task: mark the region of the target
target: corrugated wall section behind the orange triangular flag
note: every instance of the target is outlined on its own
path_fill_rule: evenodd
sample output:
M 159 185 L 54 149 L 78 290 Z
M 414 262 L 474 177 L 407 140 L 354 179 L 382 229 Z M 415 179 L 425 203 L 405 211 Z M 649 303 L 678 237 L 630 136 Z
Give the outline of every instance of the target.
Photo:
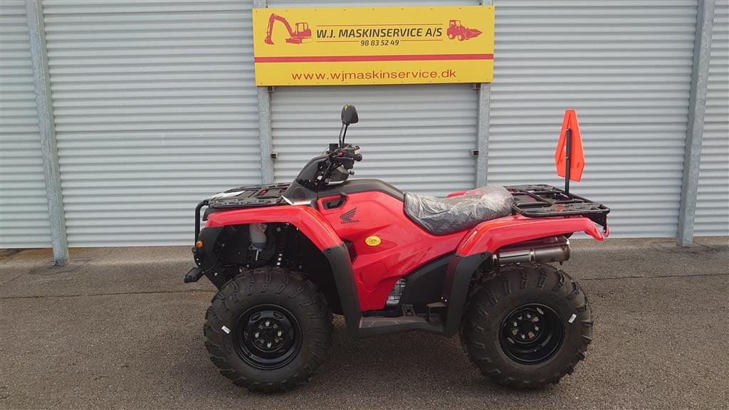
M 561 185 L 554 150 L 577 109 L 575 193 L 614 236 L 675 236 L 697 2 L 496 0 L 488 182 Z

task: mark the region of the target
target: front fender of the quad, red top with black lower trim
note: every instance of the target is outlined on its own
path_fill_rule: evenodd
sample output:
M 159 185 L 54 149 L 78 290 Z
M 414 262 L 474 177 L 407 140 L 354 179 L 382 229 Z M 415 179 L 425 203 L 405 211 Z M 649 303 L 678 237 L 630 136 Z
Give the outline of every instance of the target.
M 352 336 L 359 336 L 359 320 L 362 318 L 362 312 L 359 309 L 352 263 L 346 245 L 332 225 L 315 209 L 292 205 L 216 212 L 208 217 L 206 228 L 252 223 L 290 223 L 321 250 L 332 268 L 347 330 Z

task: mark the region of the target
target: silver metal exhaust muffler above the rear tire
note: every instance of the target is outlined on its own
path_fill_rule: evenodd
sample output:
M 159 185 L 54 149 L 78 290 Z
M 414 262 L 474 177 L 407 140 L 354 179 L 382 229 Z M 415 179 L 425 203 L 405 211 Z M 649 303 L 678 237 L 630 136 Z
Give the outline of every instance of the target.
M 569 259 L 569 240 L 560 235 L 512 244 L 502 247 L 493 258 L 495 266 L 523 262 L 564 262 Z

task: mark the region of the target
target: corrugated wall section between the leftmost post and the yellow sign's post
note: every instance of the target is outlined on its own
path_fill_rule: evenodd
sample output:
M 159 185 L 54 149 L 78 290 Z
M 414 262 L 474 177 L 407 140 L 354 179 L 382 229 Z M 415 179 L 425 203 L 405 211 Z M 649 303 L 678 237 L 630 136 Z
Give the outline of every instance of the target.
M 251 1 L 44 1 L 71 246 L 187 244 L 261 180 Z

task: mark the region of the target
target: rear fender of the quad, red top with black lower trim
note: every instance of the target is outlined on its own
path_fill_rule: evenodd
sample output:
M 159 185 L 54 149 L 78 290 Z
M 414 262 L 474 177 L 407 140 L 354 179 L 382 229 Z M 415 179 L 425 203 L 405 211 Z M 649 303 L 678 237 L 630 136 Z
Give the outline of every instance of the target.
M 586 217 L 530 218 L 512 215 L 476 225 L 461 241 L 456 255 L 448 263 L 443 287 L 443 299 L 448 306 L 445 335 L 453 336 L 458 332 L 471 278 L 484 264 L 486 268 L 492 268 L 491 255 L 496 251 L 510 244 L 574 232 L 585 232 L 598 241 L 607 236 L 607 232 L 604 235 Z

